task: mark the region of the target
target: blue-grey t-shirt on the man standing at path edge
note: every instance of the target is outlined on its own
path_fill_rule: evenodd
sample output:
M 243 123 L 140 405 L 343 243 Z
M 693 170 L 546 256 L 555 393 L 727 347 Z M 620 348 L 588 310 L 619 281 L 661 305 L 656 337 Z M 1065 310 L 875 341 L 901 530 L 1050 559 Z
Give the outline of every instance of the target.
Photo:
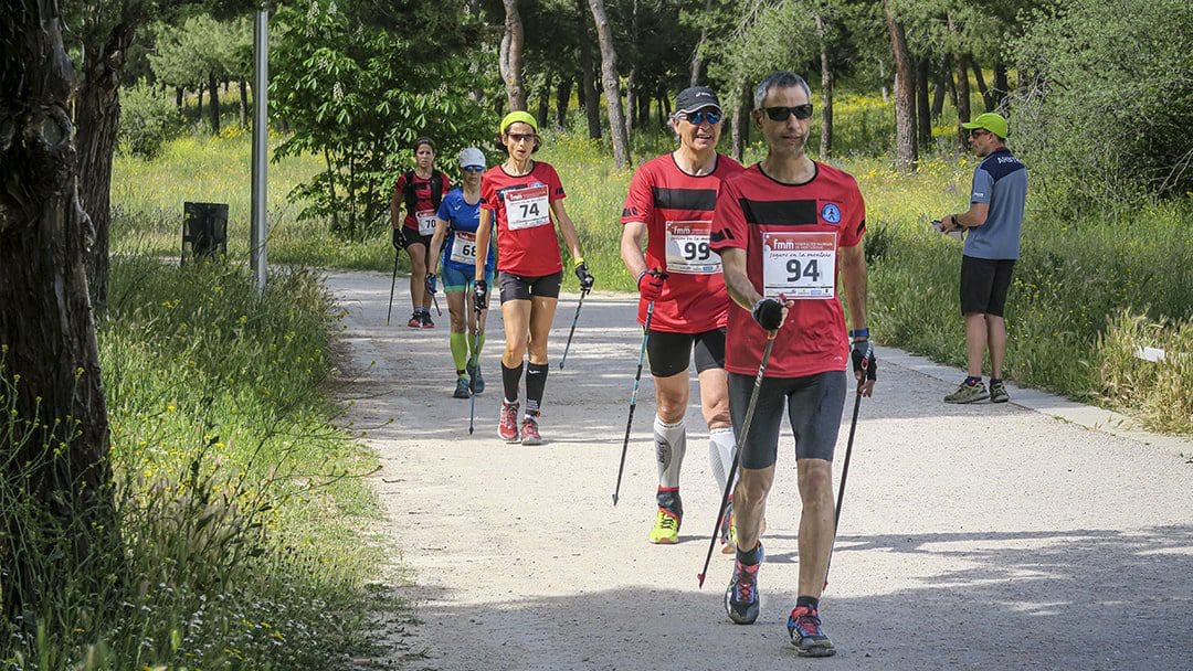
M 973 169 L 970 203 L 989 203 L 985 223 L 965 234 L 965 255 L 1019 259 L 1019 235 L 1027 201 L 1027 168 L 1003 147 Z

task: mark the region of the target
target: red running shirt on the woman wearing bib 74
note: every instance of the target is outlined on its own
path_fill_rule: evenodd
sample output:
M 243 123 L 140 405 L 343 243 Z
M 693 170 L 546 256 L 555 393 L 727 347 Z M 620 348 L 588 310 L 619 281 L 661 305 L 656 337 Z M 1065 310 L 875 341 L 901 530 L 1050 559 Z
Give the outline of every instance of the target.
M 497 222 L 497 271 L 540 278 L 563 269 L 551 203 L 564 195 L 560 175 L 542 161 L 523 176 L 500 164 L 481 175 L 481 207 Z

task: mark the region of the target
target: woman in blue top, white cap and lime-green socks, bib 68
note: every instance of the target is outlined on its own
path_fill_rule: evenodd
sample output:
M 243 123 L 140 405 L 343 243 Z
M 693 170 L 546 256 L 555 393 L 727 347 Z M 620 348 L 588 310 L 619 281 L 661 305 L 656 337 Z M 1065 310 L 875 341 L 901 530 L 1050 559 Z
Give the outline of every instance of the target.
M 482 249 L 476 244 L 476 228 L 481 222 L 481 173 L 484 154 L 475 147 L 459 153 L 462 185 L 444 197 L 435 213 L 435 234 L 431 238 L 429 282 L 443 249 L 444 293 L 451 315 L 451 358 L 456 362 L 456 398 L 469 398 L 484 391 L 481 377 L 481 347 L 484 344 L 484 318 L 488 310 L 476 312 L 468 304 L 465 292 L 471 284 L 474 263 Z M 493 246 L 484 261 L 484 281 L 493 281 L 496 259 Z M 466 327 L 466 328 L 465 328 Z M 469 336 L 471 334 L 471 336 Z

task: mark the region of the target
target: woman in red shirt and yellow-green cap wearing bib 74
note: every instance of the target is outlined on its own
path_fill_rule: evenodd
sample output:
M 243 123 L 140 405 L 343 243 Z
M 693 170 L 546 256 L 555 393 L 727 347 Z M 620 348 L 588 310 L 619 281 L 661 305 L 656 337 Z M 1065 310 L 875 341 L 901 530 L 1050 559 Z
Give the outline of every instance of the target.
M 534 161 L 538 150 L 538 123 L 526 112 L 511 112 L 501 119 L 497 147 L 509 157 L 489 168 L 481 178 L 481 225 L 477 248 L 489 244 L 490 222 L 496 222 L 497 285 L 501 288 L 501 318 L 506 327 L 506 349 L 501 355 L 505 398 L 497 435 L 508 442 L 542 445 L 538 421 L 546 386 L 546 336 L 555 318 L 563 279 L 563 260 L 555 237 L 560 225 L 563 242 L 571 251 L 576 278 L 582 290 L 592 288 L 593 277 L 580 254 L 576 226 L 563 209 L 563 185 L 549 163 Z M 554 215 L 554 220 L 552 220 Z M 476 307 L 488 306 L 489 285 L 484 262 L 476 260 Z M 523 356 L 526 366 L 526 412 L 518 423 L 518 387 Z

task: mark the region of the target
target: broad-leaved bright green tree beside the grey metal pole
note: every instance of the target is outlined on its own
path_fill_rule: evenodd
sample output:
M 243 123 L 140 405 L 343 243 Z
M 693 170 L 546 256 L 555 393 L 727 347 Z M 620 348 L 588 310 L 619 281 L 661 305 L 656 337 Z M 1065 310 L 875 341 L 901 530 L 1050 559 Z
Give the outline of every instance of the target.
M 475 62 L 456 55 L 476 36 L 463 11 L 429 0 L 311 0 L 283 7 L 277 24 L 272 110 L 293 132 L 277 157 L 310 153 L 326 167 L 293 193 L 307 201 L 301 218 L 367 237 L 413 162 L 415 138 L 429 136 L 452 156 L 493 137 L 490 107 L 471 97 Z

